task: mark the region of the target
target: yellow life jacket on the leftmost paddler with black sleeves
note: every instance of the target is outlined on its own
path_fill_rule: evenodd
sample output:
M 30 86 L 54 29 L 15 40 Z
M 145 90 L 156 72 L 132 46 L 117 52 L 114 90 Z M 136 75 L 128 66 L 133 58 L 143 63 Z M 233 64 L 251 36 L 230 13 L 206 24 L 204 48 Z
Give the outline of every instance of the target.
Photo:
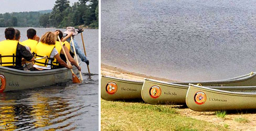
M 15 66 L 16 62 L 16 50 L 18 41 L 16 40 L 4 40 L 0 42 L 0 65 Z

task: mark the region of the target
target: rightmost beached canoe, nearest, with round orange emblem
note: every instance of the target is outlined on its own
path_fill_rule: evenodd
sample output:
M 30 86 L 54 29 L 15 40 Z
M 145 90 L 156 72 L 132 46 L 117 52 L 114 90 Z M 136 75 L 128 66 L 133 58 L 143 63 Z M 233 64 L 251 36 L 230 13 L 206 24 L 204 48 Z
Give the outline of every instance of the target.
M 186 104 L 191 110 L 200 112 L 256 109 L 256 93 L 230 92 L 190 84 Z

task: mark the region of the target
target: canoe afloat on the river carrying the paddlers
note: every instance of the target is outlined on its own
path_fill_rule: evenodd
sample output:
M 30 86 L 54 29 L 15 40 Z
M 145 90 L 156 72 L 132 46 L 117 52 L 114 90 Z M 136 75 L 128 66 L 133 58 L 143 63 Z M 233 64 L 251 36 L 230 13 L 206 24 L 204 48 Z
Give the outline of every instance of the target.
M 74 73 L 78 73 L 73 66 Z M 0 66 L 0 92 L 38 88 L 72 80 L 67 68 L 47 71 L 23 71 Z

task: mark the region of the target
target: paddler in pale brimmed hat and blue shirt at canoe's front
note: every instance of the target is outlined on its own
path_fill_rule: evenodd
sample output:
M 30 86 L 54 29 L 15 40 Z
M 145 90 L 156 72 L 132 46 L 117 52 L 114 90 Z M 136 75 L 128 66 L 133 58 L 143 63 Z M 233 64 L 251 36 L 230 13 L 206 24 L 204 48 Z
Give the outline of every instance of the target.
M 76 36 L 77 34 L 79 34 L 80 32 L 82 32 L 83 29 L 79 29 L 78 31 L 77 30 L 74 30 L 74 27 L 67 27 L 66 31 L 64 31 L 63 33 L 64 34 L 70 34 L 70 33 L 73 33 L 72 34 L 72 38 L 73 38 L 73 42 L 74 42 L 74 47 L 76 49 L 76 52 L 79 56 L 79 58 L 81 59 L 81 61 L 85 62 L 87 65 L 89 65 L 89 60 L 86 58 L 86 55 L 84 55 L 84 53 L 82 52 L 82 50 L 80 49 L 80 47 L 78 46 L 78 43 L 76 42 L 76 40 L 74 40 L 74 36 Z M 63 38 L 64 40 L 66 39 L 67 37 Z M 67 38 L 67 41 L 70 43 L 71 42 L 71 38 Z M 73 51 L 73 46 L 72 44 L 70 44 L 70 51 L 71 51 L 71 55 L 73 56 L 74 54 L 74 51 Z

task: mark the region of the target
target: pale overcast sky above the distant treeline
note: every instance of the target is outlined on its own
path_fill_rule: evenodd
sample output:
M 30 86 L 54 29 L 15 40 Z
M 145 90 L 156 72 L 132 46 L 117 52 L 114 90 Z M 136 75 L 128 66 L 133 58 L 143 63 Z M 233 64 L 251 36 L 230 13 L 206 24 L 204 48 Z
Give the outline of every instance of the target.
M 70 5 L 78 0 L 69 0 Z M 0 0 L 0 13 L 31 12 L 52 9 L 55 0 Z

